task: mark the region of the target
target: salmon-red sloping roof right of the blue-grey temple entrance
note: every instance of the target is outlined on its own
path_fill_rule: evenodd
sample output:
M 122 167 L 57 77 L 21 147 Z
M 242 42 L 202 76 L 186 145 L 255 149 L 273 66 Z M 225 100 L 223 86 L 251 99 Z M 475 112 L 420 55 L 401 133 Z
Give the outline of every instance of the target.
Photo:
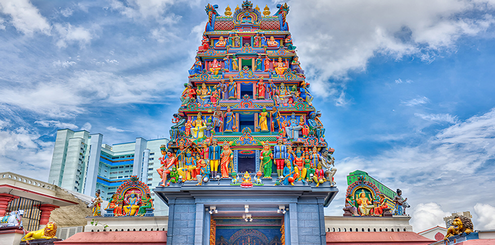
M 426 245 L 435 242 L 415 232 L 326 232 L 327 245 L 407 244 Z M 470 244 L 469 244 L 470 245 Z

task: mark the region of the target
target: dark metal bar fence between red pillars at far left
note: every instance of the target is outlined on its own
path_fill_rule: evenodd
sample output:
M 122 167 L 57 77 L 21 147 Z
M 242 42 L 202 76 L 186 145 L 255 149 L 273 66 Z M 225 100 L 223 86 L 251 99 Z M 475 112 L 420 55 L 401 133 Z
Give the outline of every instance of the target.
M 41 211 L 38 207 L 40 204 L 40 201 L 19 197 L 10 201 L 7 210 L 8 213 L 19 209 L 24 210 L 24 215 L 22 215 L 22 225 L 24 229 L 32 231 L 37 230 L 39 226 Z

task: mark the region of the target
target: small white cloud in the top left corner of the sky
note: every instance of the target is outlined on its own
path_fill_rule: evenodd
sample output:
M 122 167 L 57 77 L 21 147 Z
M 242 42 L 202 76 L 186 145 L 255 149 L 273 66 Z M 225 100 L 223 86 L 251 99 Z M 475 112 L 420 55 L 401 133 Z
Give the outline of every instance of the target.
M 0 12 L 11 17 L 10 23 L 24 34 L 40 31 L 50 34 L 50 25 L 29 0 L 0 0 Z

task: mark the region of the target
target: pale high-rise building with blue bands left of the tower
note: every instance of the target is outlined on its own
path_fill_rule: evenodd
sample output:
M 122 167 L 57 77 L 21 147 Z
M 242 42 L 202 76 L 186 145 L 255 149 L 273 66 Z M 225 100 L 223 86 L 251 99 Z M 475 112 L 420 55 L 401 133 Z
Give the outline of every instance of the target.
M 160 177 L 160 145 L 168 139 L 146 140 L 113 145 L 102 143 L 103 135 L 86 130 L 59 129 L 55 139 L 48 182 L 86 195 L 99 189 L 108 199 L 130 175 L 137 175 L 150 188 L 158 185 Z M 154 197 L 154 193 L 151 193 Z M 155 214 L 165 215 L 167 206 L 155 204 Z

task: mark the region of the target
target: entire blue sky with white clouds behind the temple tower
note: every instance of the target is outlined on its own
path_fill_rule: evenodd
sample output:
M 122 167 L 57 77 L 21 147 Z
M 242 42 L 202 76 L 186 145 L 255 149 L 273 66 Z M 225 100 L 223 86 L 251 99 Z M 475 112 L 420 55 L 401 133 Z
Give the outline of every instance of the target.
M 207 3 L 0 0 L 2 171 L 47 180 L 57 128 L 107 144 L 167 137 Z M 415 231 L 467 210 L 495 228 L 495 0 L 287 3 L 336 149 L 327 214 L 342 214 L 345 176 L 360 169 L 403 190 Z

